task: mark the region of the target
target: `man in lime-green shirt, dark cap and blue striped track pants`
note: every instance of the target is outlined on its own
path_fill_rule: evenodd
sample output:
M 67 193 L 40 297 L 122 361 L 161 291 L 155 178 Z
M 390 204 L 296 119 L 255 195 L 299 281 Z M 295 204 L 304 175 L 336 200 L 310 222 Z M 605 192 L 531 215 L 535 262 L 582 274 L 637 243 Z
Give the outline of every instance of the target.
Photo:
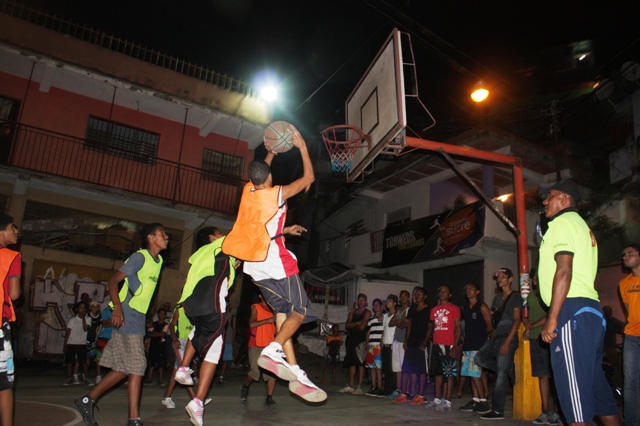
M 546 191 L 545 191 L 546 192 Z M 594 288 L 596 239 L 576 210 L 578 186 L 560 181 L 543 193 L 549 229 L 540 243 L 540 296 L 549 306 L 542 340 L 562 412 L 569 424 L 619 425 L 618 408 L 601 368 L 605 320 Z

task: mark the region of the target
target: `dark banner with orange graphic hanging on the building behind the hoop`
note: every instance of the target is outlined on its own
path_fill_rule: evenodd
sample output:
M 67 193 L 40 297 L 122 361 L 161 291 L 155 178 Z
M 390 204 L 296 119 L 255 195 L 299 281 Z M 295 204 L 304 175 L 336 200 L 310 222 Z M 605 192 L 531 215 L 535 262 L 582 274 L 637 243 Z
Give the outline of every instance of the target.
M 382 266 L 424 262 L 473 247 L 484 236 L 482 201 L 384 230 Z

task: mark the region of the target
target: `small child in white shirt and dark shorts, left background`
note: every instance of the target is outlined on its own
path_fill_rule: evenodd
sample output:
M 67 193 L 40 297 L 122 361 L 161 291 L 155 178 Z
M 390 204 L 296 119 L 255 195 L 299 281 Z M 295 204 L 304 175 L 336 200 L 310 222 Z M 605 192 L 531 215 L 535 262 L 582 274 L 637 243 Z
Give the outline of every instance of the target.
M 76 303 L 75 311 L 76 316 L 67 323 L 67 336 L 64 339 L 64 362 L 67 364 L 67 380 L 62 385 L 80 384 L 78 380 L 78 365 L 80 365 L 84 374 L 84 384 L 93 386 L 93 383 L 89 383 L 87 379 L 89 375 L 89 367 L 87 366 L 87 331 L 89 331 L 91 319 L 87 316 L 87 305 L 84 302 Z

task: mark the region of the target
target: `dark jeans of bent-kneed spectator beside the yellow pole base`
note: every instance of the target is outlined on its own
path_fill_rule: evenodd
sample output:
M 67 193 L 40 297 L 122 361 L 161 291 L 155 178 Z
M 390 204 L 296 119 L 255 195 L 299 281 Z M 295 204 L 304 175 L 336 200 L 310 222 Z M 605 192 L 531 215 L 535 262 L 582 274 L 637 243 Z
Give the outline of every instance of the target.
M 504 400 L 509 386 L 509 371 L 513 365 L 513 356 L 518 349 L 518 336 L 514 336 L 509 342 L 507 354 L 500 355 L 500 346 L 504 340 L 504 336 L 487 340 L 474 358 L 475 363 L 480 367 L 496 372 L 496 387 L 493 389 L 491 408 L 500 414 L 504 414 Z

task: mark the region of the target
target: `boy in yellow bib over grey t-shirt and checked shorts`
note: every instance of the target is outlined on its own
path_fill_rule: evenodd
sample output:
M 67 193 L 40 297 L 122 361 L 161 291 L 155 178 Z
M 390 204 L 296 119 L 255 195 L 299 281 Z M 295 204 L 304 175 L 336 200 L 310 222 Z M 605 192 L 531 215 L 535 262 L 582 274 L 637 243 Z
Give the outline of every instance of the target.
M 101 363 L 111 371 L 88 394 L 76 398 L 74 404 L 89 426 L 96 426 L 93 407 L 106 391 L 128 376 L 129 422 L 127 426 L 142 426 L 140 420 L 140 387 L 147 360 L 144 354 L 146 313 L 158 284 L 162 256 L 169 237 L 159 223 L 150 223 L 140 231 L 142 249 L 132 254 L 109 280 L 113 297 L 113 332 L 104 348 Z M 118 283 L 124 286 L 118 293 Z

